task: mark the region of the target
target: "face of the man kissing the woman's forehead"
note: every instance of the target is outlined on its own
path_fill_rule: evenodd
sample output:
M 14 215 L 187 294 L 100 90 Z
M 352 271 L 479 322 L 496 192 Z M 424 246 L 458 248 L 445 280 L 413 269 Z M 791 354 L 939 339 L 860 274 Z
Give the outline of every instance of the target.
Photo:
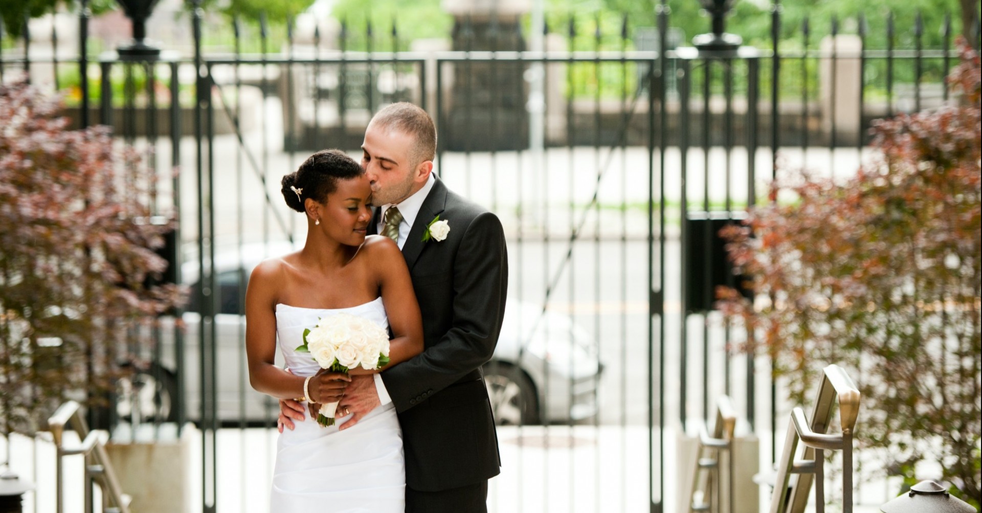
M 369 124 L 361 144 L 361 167 L 371 183 L 372 204 L 381 206 L 409 198 L 418 178 L 409 158 L 415 138 L 405 132 Z

